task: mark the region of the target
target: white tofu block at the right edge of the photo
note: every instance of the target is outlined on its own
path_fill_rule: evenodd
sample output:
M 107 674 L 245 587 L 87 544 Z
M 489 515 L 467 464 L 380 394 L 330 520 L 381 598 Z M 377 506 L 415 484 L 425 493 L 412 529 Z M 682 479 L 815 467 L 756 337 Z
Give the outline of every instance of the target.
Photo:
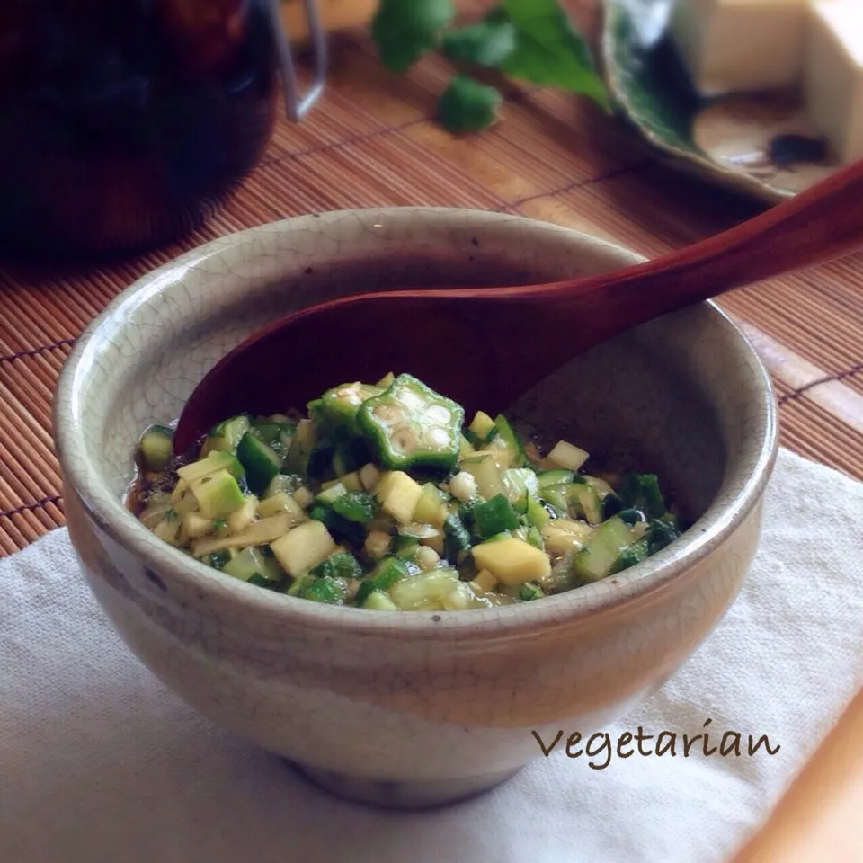
M 841 160 L 863 159 L 863 0 L 813 4 L 804 98 L 810 120 Z

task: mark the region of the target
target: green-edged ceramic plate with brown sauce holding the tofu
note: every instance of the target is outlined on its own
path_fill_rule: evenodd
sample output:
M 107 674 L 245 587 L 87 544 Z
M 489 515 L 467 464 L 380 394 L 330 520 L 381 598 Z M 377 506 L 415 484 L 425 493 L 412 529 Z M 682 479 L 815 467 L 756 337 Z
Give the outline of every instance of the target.
M 605 0 L 602 65 L 618 111 L 659 156 L 769 203 L 839 166 L 793 93 L 693 92 L 666 35 L 672 0 Z

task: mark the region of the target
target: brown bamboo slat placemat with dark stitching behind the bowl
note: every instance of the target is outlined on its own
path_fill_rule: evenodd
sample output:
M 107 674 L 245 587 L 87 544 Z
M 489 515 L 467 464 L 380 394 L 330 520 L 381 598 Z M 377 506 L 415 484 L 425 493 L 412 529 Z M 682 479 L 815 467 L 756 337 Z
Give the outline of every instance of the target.
M 74 272 L 0 265 L 0 556 L 63 524 L 50 405 L 76 335 L 129 283 L 183 250 L 310 211 L 374 205 L 492 209 L 610 237 L 647 255 L 748 218 L 751 201 L 657 164 L 592 105 L 516 88 L 494 129 L 451 138 L 431 120 L 449 69 L 379 65 L 368 37 L 342 33 L 325 97 L 280 124 L 267 154 L 182 245 Z M 767 361 L 790 449 L 863 479 L 863 255 L 743 289 L 722 306 Z

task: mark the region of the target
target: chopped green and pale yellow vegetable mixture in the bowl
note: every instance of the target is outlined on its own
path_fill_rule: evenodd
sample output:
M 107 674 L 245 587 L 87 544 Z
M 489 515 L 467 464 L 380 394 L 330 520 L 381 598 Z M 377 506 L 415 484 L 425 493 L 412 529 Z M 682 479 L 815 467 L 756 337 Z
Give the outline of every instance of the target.
M 157 537 L 289 596 L 379 610 L 535 601 L 616 574 L 681 535 L 653 474 L 591 476 L 503 417 L 411 375 L 334 387 L 307 416 L 239 415 L 195 460 L 170 428 L 138 445 L 133 508 Z

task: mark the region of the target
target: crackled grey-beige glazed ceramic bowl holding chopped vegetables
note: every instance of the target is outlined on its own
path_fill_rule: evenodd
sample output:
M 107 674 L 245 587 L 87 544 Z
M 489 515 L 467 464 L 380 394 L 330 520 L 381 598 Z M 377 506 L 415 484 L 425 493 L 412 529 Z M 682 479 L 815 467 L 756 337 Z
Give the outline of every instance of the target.
M 67 361 L 55 433 L 72 541 L 129 650 L 201 714 L 378 805 L 476 794 L 542 757 L 532 732 L 588 734 L 630 711 L 723 617 L 759 540 L 774 397 L 712 304 L 602 344 L 513 405 L 600 462 L 655 471 L 695 520 L 662 552 L 573 592 L 440 613 L 322 606 L 198 564 L 140 525 L 123 495 L 139 432 L 176 417 L 273 316 L 360 289 L 536 282 L 637 260 L 525 218 L 371 209 L 228 236 L 120 294 Z M 517 349 L 541 338 L 526 333 Z M 361 347 L 358 333 L 320 350 Z M 301 375 L 308 361 L 286 356 L 273 374 Z

